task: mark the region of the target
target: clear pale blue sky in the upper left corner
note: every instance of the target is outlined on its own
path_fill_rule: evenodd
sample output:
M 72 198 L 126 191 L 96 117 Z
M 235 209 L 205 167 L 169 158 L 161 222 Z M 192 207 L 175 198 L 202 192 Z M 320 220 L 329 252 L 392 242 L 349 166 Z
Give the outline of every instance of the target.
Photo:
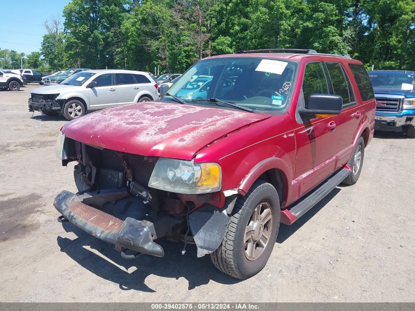
M 71 0 L 0 0 L 0 49 L 28 55 L 39 51 L 46 33 L 43 22 L 61 17 L 63 7 Z M 63 18 L 61 18 L 63 22 Z

